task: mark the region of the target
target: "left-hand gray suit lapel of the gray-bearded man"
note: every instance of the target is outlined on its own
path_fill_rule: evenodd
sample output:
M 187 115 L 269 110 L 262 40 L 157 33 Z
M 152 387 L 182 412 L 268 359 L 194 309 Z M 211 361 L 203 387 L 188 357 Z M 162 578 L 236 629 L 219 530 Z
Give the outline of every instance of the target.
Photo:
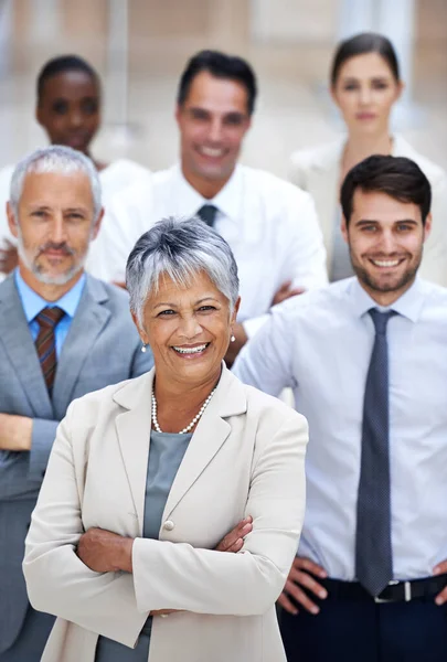
M 0 289 L 0 342 L 35 416 L 53 418 L 53 406 L 13 276 Z

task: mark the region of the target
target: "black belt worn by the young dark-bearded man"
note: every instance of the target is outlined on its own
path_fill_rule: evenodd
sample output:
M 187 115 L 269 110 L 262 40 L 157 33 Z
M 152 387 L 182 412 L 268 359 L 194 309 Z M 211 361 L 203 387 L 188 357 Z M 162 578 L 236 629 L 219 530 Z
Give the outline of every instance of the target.
M 447 585 L 447 574 L 411 581 L 390 581 L 379 596 L 371 596 L 358 581 L 318 579 L 328 591 L 327 599 L 374 600 L 374 602 L 409 602 L 415 599 L 433 599 Z

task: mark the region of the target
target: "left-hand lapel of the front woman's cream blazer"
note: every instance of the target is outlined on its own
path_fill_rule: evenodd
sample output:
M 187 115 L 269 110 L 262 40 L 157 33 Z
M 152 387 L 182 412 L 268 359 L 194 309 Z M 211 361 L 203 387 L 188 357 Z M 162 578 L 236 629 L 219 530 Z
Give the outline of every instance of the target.
M 152 381 L 155 370 L 131 380 L 114 399 L 127 410 L 116 418 L 116 431 L 125 466 L 140 535 L 145 521 L 146 478 L 151 429 Z

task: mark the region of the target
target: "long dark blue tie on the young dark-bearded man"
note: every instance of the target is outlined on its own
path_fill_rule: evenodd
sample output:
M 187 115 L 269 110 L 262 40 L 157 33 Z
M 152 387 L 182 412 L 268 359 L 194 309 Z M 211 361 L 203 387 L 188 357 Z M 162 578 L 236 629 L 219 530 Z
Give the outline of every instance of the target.
M 369 313 L 374 322 L 375 340 L 363 404 L 355 574 L 360 584 L 372 596 L 377 596 L 393 579 L 386 324 L 396 313 L 380 312 L 375 308 Z

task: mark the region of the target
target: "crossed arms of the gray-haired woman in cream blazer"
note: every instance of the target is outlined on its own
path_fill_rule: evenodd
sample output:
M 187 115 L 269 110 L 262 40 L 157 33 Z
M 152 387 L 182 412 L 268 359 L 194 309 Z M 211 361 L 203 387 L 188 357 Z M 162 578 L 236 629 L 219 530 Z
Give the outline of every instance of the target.
M 246 523 L 251 531 L 240 553 L 222 554 L 219 546 L 203 549 L 188 543 L 120 540 L 98 530 L 83 537 L 83 485 L 75 470 L 68 418 L 60 426 L 26 538 L 23 570 L 38 610 L 132 647 L 150 612 L 247 616 L 264 613 L 274 604 L 302 522 L 304 424 L 296 418 L 284 421 L 266 444 L 245 508 L 246 516 L 253 516 L 253 523 Z M 79 471 L 84 447 L 76 452 Z M 275 500 L 278 493 L 280 502 Z M 244 536 L 234 535 L 236 540 L 224 543 L 226 551 L 237 552 L 241 546 Z M 104 566 L 98 565 L 100 556 Z

